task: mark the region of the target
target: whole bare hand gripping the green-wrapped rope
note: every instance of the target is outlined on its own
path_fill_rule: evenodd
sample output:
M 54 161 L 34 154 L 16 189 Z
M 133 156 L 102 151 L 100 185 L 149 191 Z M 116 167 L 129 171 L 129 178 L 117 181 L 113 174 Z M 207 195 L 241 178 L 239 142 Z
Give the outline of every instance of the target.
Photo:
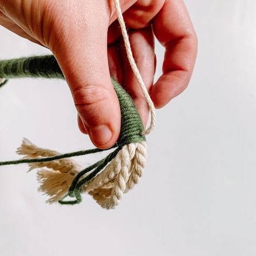
M 134 59 L 157 109 L 183 92 L 197 55 L 197 36 L 181 0 L 120 0 Z M 80 131 L 107 149 L 120 132 L 111 76 L 130 93 L 146 126 L 149 109 L 129 63 L 111 0 L 0 0 L 0 25 L 49 48 L 70 87 Z M 154 36 L 165 47 L 156 69 Z M 56 96 L 57 97 L 57 96 Z

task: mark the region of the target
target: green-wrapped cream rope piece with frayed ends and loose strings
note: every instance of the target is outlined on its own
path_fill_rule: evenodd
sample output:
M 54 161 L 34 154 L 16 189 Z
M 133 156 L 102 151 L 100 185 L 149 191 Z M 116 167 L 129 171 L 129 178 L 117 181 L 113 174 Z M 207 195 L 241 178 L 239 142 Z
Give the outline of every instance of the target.
M 17 153 L 24 157 L 19 160 L 3 161 L 0 166 L 11 164 L 29 164 L 29 171 L 38 169 L 39 191 L 47 194 L 48 203 L 78 204 L 82 201 L 81 193 L 90 194 L 103 208 L 116 207 L 124 193 L 131 190 L 142 177 L 146 165 L 145 135 L 154 128 L 156 114 L 154 105 L 132 56 L 129 37 L 118 0 L 116 5 L 118 21 L 124 37 L 127 57 L 131 68 L 142 89 L 151 112 L 151 123 L 144 130 L 136 105 L 118 82 L 112 79 L 121 109 L 121 131 L 116 145 L 104 159 L 83 169 L 71 157 L 84 156 L 104 150 L 92 149 L 60 154 L 32 144 L 23 139 Z M 38 56 L 0 61 L 0 87 L 9 78 L 43 77 L 62 78 L 57 60 L 54 56 Z M 70 200 L 66 200 L 70 197 Z

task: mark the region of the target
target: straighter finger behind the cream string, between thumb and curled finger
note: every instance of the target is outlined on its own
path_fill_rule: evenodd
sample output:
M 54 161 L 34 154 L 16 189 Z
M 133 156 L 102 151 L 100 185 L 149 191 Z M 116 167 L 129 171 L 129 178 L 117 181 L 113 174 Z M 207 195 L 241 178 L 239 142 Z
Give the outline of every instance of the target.
M 156 70 L 152 28 L 149 26 L 145 29 L 130 31 L 129 38 L 133 57 L 137 63 L 147 90 L 150 91 L 153 85 L 154 72 Z M 147 106 L 145 97 L 140 89 L 137 79 L 132 72 L 123 41 L 120 46 L 120 52 L 124 66 L 124 87 L 136 103 L 139 114 L 142 117 L 143 124 L 146 126 L 149 118 L 149 107 Z

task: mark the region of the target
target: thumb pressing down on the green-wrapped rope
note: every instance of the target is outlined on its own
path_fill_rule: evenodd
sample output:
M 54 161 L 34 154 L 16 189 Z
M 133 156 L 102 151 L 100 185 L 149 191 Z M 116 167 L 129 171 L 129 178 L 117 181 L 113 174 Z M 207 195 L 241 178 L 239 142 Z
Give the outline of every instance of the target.
M 108 23 L 99 17 L 104 16 L 97 14 L 95 20 L 91 14 L 88 21 L 72 20 L 72 24 L 65 19 L 58 33 L 52 33 L 50 49 L 92 143 L 107 149 L 117 142 L 121 118 L 107 59 Z

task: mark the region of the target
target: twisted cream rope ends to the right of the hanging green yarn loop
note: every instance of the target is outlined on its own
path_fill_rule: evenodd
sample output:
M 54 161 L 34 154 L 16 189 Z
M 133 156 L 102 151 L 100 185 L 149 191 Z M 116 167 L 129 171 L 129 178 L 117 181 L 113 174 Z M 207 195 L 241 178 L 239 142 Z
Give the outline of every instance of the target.
M 123 193 L 138 183 L 143 174 L 145 159 L 145 142 L 125 145 L 104 171 L 84 187 L 84 192 L 91 194 L 103 208 L 116 207 Z M 131 162 L 134 162 L 134 166 Z

